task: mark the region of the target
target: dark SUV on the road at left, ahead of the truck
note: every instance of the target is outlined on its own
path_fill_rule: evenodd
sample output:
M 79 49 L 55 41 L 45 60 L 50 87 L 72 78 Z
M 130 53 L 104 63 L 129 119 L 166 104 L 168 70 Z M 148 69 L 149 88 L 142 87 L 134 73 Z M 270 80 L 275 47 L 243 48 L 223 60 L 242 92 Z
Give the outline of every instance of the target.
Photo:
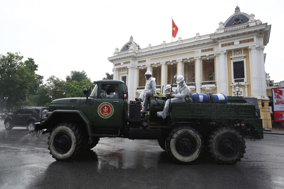
M 46 112 L 48 112 L 48 108 L 45 107 L 22 108 L 6 116 L 4 120 L 5 129 L 11 130 L 13 127 L 26 127 L 32 131 L 35 123 L 40 122 Z

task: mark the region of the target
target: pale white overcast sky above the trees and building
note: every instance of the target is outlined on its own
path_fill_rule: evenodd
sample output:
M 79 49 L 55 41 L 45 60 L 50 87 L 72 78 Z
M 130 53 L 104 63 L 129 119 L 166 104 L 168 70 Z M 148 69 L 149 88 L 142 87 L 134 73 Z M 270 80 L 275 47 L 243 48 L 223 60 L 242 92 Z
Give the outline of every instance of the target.
M 284 80 L 283 0 L 0 0 L 0 54 L 20 52 L 33 58 L 44 80 L 65 80 L 84 70 L 92 80 L 112 73 L 107 60 L 133 36 L 141 48 L 214 33 L 238 5 L 241 12 L 271 26 L 265 70 L 274 82 Z M 178 26 L 172 38 L 172 17 Z M 281 47 L 281 48 L 280 48 Z

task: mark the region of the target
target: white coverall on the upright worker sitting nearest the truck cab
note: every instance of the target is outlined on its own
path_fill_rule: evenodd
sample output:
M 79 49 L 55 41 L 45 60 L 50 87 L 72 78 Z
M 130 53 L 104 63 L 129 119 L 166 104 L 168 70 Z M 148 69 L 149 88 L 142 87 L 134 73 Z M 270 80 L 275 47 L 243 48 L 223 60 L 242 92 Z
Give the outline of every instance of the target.
M 142 112 L 147 112 L 148 109 L 148 98 L 150 94 L 152 96 L 157 95 L 156 91 L 156 78 L 150 77 L 149 80 L 147 80 L 145 89 L 140 93 L 139 98 L 142 99 L 143 104 L 142 104 Z

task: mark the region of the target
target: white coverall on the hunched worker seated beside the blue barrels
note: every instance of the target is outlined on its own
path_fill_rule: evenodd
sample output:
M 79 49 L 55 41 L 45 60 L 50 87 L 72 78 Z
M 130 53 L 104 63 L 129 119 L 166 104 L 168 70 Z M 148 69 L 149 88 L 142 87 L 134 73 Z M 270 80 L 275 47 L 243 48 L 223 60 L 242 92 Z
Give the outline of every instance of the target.
M 171 99 L 171 103 L 181 103 L 185 102 L 185 96 L 189 95 L 190 90 L 183 81 L 181 86 L 178 86 L 172 94 L 174 94 L 174 98 Z M 162 117 L 165 119 L 169 115 L 169 108 L 170 108 L 170 99 L 166 100 L 164 110 L 162 112 L 157 112 L 158 117 Z

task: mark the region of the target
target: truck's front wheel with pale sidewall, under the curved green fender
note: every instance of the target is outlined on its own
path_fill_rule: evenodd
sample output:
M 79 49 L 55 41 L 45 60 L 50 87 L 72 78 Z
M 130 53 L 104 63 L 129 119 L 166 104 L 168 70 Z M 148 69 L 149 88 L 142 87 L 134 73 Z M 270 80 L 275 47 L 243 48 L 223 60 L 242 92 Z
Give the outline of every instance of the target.
M 79 156 L 82 150 L 81 130 L 71 123 L 57 125 L 51 131 L 48 140 L 50 154 L 58 161 L 72 161 Z

